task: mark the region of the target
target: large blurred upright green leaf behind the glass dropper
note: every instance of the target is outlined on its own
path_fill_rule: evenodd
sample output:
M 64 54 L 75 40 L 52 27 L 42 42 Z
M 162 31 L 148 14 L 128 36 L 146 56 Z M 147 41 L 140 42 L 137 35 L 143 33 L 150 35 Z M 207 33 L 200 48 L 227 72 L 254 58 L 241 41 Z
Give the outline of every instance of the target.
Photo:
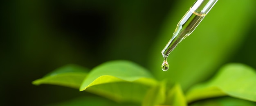
M 218 0 L 194 32 L 168 56 L 169 70 L 163 72 L 162 49 L 171 39 L 177 23 L 195 0 L 178 0 L 150 51 L 149 69 L 159 79 L 178 82 L 182 89 L 202 82 L 238 49 L 255 19 L 255 0 Z

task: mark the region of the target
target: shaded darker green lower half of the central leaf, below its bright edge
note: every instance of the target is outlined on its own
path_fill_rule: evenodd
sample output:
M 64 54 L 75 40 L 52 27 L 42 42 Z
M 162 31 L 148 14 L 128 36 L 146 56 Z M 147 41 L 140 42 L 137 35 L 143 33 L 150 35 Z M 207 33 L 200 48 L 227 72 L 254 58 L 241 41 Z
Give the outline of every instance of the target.
M 148 85 L 126 81 L 97 84 L 87 88 L 85 91 L 119 103 L 132 102 L 141 104 L 150 88 Z

